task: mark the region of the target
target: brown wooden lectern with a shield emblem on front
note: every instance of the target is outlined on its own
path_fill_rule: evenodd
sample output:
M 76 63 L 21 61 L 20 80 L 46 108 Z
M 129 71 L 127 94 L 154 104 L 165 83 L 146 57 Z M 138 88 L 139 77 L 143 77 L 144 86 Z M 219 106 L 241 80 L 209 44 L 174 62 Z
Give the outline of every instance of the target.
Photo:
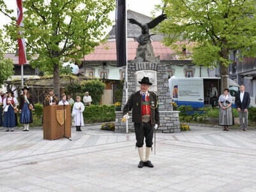
M 64 114 L 65 110 L 65 114 Z M 65 135 L 71 138 L 70 105 L 44 107 L 44 140 L 58 140 Z M 64 120 L 65 116 L 65 120 Z M 65 130 L 64 130 L 65 126 Z

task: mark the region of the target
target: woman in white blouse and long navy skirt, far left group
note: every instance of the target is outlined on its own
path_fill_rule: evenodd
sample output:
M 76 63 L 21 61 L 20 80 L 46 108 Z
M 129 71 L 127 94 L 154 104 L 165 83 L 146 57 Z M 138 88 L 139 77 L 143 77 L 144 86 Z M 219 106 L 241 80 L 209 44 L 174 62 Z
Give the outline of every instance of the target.
M 4 108 L 4 123 L 3 127 L 6 127 L 6 131 L 14 131 L 16 124 L 15 119 L 15 110 L 17 110 L 18 100 L 15 97 L 12 97 L 12 91 L 7 92 L 8 96 L 4 99 L 3 108 Z

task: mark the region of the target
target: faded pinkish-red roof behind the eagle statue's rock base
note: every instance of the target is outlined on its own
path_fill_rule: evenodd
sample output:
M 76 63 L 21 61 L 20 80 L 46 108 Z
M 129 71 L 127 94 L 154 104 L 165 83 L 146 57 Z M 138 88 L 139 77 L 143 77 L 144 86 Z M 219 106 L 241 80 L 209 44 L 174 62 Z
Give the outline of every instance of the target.
M 160 60 L 179 60 L 179 56 L 170 49 L 164 46 L 161 42 L 151 42 L 155 56 L 160 56 Z M 136 49 L 138 42 L 128 42 L 128 61 L 132 61 L 136 57 Z M 84 56 L 85 61 L 116 61 L 116 42 L 106 42 L 95 47 L 95 51 Z M 186 59 L 191 60 L 191 59 Z

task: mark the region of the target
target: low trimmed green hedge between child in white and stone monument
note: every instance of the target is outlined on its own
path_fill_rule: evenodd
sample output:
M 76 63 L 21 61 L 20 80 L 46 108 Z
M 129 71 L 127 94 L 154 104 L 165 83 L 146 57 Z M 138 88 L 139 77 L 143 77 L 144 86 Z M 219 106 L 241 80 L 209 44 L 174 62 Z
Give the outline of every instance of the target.
M 83 115 L 86 123 L 112 122 L 116 116 L 115 106 L 86 106 Z

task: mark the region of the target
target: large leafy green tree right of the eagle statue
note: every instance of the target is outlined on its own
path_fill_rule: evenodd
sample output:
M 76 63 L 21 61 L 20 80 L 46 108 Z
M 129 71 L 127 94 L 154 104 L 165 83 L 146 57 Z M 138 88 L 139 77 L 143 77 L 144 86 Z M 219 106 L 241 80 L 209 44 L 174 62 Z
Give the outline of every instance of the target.
M 228 87 L 230 51 L 255 56 L 255 1 L 250 0 L 163 0 L 168 19 L 157 30 L 164 44 L 192 51 L 197 65 L 220 65 L 221 90 Z M 181 42 L 181 43 L 180 43 Z

